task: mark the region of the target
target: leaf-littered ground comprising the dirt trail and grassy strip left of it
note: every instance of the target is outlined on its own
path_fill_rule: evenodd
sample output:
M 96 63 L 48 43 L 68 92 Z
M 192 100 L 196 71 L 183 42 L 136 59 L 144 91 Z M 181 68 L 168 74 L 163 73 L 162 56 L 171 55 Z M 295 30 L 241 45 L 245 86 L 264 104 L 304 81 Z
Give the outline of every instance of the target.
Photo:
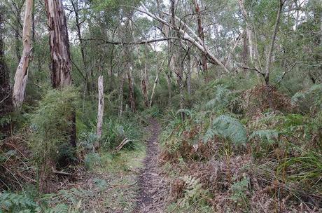
M 94 153 L 76 180 L 57 181 L 49 205 L 68 212 L 166 212 L 169 187 L 158 164 L 160 124 L 148 120 L 139 148 Z M 144 143 L 145 142 L 145 143 Z M 87 163 L 86 163 L 87 162 Z

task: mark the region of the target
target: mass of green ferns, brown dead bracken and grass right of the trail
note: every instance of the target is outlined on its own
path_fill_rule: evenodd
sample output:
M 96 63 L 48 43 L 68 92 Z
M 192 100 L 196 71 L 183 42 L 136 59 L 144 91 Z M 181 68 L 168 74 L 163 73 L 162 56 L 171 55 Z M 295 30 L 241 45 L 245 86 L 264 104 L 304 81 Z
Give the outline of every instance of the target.
M 261 88 L 227 85 L 209 83 L 213 97 L 181 110 L 184 120 L 163 116 L 169 212 L 321 210 L 321 85 L 293 97 L 274 89 L 274 109 Z

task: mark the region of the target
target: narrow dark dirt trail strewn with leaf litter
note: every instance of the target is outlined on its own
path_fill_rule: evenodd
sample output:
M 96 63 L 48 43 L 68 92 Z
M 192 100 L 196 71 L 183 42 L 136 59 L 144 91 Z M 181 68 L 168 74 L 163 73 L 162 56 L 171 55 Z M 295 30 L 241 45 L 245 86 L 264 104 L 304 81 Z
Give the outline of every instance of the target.
M 151 137 L 147 141 L 147 156 L 144 159 L 144 168 L 139 175 L 139 193 L 137 196 L 137 207 L 134 212 L 158 213 L 165 212 L 169 187 L 165 181 L 165 175 L 158 165 L 158 155 L 160 153 L 158 136 L 160 125 L 155 119 L 150 119 L 148 131 Z

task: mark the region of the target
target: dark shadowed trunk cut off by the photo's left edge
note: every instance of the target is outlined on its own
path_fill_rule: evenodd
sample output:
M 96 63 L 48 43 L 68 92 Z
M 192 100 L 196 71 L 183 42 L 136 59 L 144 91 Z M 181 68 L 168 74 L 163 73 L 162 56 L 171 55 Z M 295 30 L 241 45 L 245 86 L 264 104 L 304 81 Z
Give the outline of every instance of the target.
M 4 8 L 0 4 L 0 26 L 4 26 Z M 9 69 L 4 60 L 4 28 L 0 27 L 0 117 L 12 111 Z

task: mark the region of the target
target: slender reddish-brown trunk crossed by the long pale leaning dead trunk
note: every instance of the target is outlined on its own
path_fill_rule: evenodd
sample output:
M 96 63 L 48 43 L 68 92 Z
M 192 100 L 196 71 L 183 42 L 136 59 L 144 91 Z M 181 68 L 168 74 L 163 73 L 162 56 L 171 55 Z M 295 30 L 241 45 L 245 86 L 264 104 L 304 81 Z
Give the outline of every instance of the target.
M 202 27 L 202 16 L 200 13 L 200 6 L 197 2 L 197 0 L 193 0 L 193 4 L 195 5 L 195 11 L 197 13 L 197 24 L 198 24 L 198 36 L 200 37 L 202 41 L 202 46 L 204 46 L 204 28 Z M 201 62 L 202 62 L 202 72 L 204 74 L 204 81 L 207 83 L 208 82 L 208 65 L 207 65 L 207 55 L 202 52 L 201 54 Z

